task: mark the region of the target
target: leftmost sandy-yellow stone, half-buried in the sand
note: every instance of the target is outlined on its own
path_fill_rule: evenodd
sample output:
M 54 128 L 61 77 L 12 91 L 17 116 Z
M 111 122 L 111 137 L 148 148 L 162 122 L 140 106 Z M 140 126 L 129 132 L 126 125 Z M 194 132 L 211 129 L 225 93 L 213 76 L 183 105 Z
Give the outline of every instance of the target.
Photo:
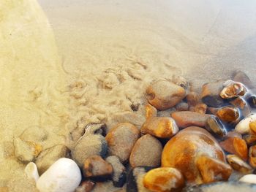
M 42 145 L 34 142 L 23 141 L 20 138 L 15 138 L 14 147 L 15 157 L 23 163 L 34 161 L 42 151 Z

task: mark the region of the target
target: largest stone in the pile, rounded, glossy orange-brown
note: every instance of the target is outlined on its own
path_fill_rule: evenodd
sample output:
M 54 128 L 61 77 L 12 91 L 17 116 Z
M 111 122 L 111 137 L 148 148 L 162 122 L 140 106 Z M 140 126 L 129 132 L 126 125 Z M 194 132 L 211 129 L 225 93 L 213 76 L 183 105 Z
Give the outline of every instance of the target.
M 201 184 L 203 179 L 196 162 L 202 154 L 225 162 L 222 148 L 206 129 L 195 126 L 184 128 L 165 145 L 162 151 L 162 166 L 180 170 L 189 183 Z M 217 174 L 215 176 L 217 177 Z

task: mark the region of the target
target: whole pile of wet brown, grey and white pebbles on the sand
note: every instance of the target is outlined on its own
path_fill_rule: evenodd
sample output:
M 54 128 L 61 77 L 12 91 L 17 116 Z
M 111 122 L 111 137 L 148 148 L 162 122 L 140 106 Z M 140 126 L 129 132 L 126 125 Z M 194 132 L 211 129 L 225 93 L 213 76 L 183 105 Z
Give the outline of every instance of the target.
M 93 123 L 70 153 L 64 145 L 41 152 L 27 143 L 34 150 L 18 158 L 30 162 L 25 172 L 40 192 L 89 192 L 109 182 L 128 192 L 256 183 L 252 82 L 237 72 L 232 80 L 206 83 L 200 93 L 188 87 L 183 77 L 152 82 L 141 128 L 124 122 L 106 133 L 105 124 Z

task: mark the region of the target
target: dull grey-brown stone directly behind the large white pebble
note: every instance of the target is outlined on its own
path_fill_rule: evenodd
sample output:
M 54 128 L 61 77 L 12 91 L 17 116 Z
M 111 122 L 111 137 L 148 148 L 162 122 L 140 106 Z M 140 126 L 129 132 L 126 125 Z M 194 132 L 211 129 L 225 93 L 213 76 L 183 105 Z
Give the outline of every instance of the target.
M 54 145 L 53 147 L 42 150 L 35 161 L 39 174 L 45 172 L 59 158 L 67 157 L 69 151 L 69 148 L 65 145 Z

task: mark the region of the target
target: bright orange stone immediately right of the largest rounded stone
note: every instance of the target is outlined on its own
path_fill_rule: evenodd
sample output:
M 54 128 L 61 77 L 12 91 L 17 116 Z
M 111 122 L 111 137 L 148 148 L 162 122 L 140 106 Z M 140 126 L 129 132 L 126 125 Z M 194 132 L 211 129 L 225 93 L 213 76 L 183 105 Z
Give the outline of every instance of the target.
M 244 139 L 239 137 L 230 137 L 222 142 L 219 142 L 219 145 L 223 150 L 227 151 L 228 153 L 238 155 L 244 161 L 248 159 L 248 148 Z

